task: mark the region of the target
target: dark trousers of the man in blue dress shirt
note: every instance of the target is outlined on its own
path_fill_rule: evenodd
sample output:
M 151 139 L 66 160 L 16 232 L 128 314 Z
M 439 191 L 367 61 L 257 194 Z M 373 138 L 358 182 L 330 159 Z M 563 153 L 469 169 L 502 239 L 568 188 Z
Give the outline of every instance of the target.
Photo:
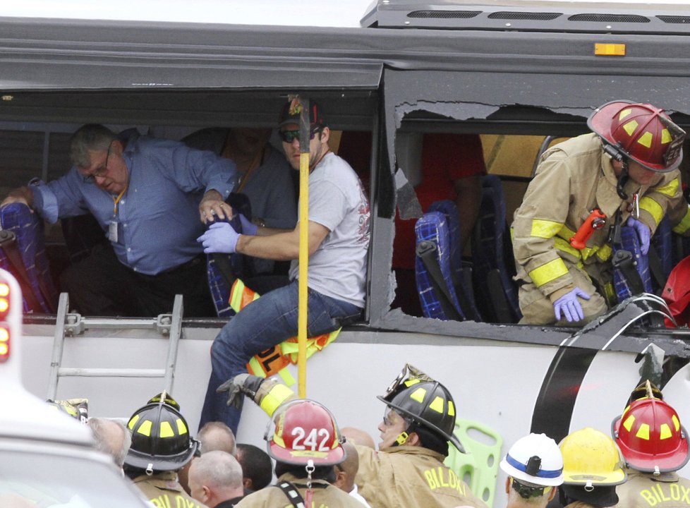
M 214 316 L 208 289 L 206 257 L 199 255 L 157 275 L 145 275 L 123 265 L 110 244 L 68 267 L 61 276 L 70 308 L 83 315 L 152 317 L 171 313 L 176 294 L 183 295 L 184 315 Z

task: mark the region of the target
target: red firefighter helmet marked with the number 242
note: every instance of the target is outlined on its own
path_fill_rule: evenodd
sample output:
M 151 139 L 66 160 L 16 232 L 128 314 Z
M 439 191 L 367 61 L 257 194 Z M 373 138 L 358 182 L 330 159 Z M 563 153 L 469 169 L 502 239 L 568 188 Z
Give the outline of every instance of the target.
M 282 404 L 266 429 L 270 456 L 286 464 L 332 466 L 345 459 L 335 418 L 324 406 L 308 399 Z

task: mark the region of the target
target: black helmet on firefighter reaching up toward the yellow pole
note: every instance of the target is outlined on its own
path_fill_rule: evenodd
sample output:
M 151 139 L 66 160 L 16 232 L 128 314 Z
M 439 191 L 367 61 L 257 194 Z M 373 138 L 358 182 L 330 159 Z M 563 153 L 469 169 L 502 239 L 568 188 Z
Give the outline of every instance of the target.
M 465 452 L 454 435 L 455 403 L 452 395 L 440 382 L 421 370 L 406 364 L 386 394 L 377 399 L 404 418 L 410 418 L 413 423 L 444 437 L 460 452 Z

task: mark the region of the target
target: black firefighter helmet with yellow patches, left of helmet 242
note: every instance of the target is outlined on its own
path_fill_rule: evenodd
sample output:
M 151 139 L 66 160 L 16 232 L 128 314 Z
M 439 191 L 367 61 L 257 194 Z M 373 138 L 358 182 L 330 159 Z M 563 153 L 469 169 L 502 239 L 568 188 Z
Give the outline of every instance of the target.
M 132 431 L 132 444 L 125 458 L 126 465 L 152 474 L 176 471 L 192 459 L 199 443 L 190 437 L 179 407 L 163 392 L 135 411 L 127 424 Z

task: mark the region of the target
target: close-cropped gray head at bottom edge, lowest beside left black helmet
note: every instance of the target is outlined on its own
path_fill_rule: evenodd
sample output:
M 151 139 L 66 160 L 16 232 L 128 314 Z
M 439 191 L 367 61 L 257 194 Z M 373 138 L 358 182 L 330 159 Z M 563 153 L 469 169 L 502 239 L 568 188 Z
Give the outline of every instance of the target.
M 244 494 L 242 468 L 227 452 L 206 452 L 192 461 L 189 490 L 195 500 L 209 507 L 241 497 Z

